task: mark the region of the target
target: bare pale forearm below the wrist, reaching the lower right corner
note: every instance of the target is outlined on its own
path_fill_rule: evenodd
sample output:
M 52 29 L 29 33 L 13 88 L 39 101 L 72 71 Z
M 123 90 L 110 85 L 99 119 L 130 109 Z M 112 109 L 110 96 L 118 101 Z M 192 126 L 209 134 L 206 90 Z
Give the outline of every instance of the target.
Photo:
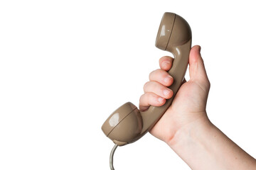
M 168 145 L 193 170 L 256 169 L 256 160 L 210 123 L 208 118 L 183 127 Z

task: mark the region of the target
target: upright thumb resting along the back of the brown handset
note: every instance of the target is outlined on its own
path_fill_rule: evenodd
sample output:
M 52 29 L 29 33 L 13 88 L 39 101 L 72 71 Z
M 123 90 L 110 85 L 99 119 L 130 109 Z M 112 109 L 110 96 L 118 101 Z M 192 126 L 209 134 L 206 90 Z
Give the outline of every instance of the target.
M 195 80 L 206 83 L 208 82 L 208 77 L 200 51 L 201 47 L 199 45 L 195 45 L 191 48 L 189 54 L 189 76 L 192 81 Z

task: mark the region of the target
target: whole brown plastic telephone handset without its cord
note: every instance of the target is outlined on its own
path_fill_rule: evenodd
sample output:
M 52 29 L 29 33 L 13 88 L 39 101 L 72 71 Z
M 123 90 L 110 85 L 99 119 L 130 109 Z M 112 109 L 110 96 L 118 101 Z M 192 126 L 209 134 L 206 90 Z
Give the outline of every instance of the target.
M 164 13 L 156 36 L 156 47 L 174 55 L 174 62 L 169 70 L 171 77 L 174 77 L 174 83 L 169 86 L 174 96 L 186 73 L 191 38 L 191 28 L 181 16 L 175 13 Z M 164 106 L 150 106 L 144 112 L 139 111 L 130 102 L 125 103 L 107 118 L 102 125 L 102 131 L 119 146 L 135 142 L 154 127 L 171 106 L 174 96 L 166 100 Z

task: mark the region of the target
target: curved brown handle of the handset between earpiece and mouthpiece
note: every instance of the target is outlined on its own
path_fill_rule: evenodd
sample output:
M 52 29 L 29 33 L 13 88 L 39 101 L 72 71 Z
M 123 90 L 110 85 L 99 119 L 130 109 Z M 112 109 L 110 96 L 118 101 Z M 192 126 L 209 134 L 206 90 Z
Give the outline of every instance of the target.
M 174 78 L 174 83 L 169 86 L 169 89 L 171 89 L 174 92 L 174 95 L 166 100 L 166 103 L 164 106 L 149 106 L 149 109 L 142 112 L 142 120 L 143 120 L 143 128 L 142 128 L 142 134 L 148 132 L 151 130 L 151 128 L 154 127 L 154 125 L 158 122 L 158 120 L 161 118 L 162 115 L 166 112 L 167 108 L 171 106 L 172 101 L 174 100 L 174 97 L 180 88 L 184 76 L 186 74 L 186 69 L 188 67 L 188 56 L 189 52 L 191 50 L 191 40 L 188 40 L 184 45 L 180 45 L 174 48 L 173 54 L 174 54 L 174 62 L 172 64 L 171 69 L 169 70 L 169 74 L 171 77 Z

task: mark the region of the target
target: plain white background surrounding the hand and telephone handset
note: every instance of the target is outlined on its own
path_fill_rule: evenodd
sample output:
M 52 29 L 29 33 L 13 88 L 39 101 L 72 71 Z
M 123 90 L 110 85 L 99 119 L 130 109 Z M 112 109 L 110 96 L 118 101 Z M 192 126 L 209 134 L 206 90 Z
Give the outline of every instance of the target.
M 166 11 L 202 47 L 210 120 L 256 157 L 254 1 L 0 1 L 0 169 L 109 169 L 101 125 L 138 106 L 170 55 L 154 47 Z M 149 134 L 117 148 L 114 166 L 189 169 Z

